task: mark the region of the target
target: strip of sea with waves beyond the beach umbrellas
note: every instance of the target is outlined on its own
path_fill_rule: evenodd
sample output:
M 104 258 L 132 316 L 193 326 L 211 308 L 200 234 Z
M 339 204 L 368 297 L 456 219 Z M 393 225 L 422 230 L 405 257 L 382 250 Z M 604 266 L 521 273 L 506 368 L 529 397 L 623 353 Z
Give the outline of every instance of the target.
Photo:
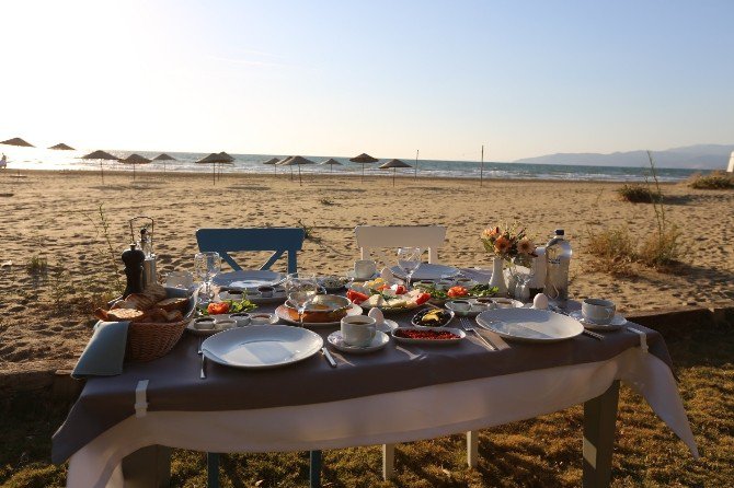
M 39 148 L 18 148 L 13 146 L 0 146 L 0 152 L 8 156 L 8 167 L 10 170 L 99 170 L 100 161 L 88 161 L 80 159 L 91 150 L 80 151 L 51 151 Z M 137 153 L 146 158 L 154 158 L 158 152 L 148 151 L 107 151 L 118 158 L 126 158 L 131 153 Z M 165 162 L 156 161 L 150 164 L 139 165 L 137 172 L 202 172 L 211 173 L 210 164 L 196 164 L 196 161 L 206 156 L 206 153 L 192 152 L 168 152 L 177 161 Z M 232 165 L 225 165 L 225 173 L 273 173 L 274 167 L 262 164 L 271 158 L 283 159 L 287 154 L 231 154 L 234 158 Z M 329 155 L 306 158 L 319 163 L 325 161 Z M 341 162 L 341 166 L 333 166 L 334 174 L 360 174 L 362 165 L 348 161 L 348 158 L 333 156 Z M 381 160 L 380 163 L 367 164 L 365 174 L 370 176 L 392 176 L 391 170 L 378 170 L 377 166 L 388 160 Z M 415 160 L 404 160 L 408 164 L 415 165 Z M 103 161 L 105 170 L 131 171 L 126 164 Z M 278 166 L 278 173 L 290 172 L 290 167 Z M 330 166 L 319 164 L 303 165 L 303 174 L 330 173 Z M 418 160 L 417 172 L 414 167 L 398 170 L 401 175 L 416 175 L 418 177 L 448 177 L 448 178 L 479 178 L 482 172 L 480 162 L 469 161 L 433 161 Z M 697 170 L 679 169 L 657 169 L 657 177 L 661 182 L 678 182 L 688 178 Z M 566 164 L 519 164 L 519 163 L 495 163 L 485 162 L 483 170 L 486 178 L 506 178 L 506 179 L 564 179 L 564 181 L 607 181 L 607 182 L 643 182 L 645 176 L 650 175 L 650 169 L 646 166 L 638 167 L 612 167 L 612 166 L 582 166 Z

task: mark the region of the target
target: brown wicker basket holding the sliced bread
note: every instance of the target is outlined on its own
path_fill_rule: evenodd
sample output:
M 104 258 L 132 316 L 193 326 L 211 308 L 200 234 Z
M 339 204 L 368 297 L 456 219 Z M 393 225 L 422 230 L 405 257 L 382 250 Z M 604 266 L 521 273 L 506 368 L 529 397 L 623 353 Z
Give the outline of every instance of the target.
M 167 288 L 168 297 L 185 297 L 185 291 Z M 125 360 L 146 362 L 165 356 L 176 345 L 194 314 L 195 298 L 190 299 L 184 319 L 171 323 L 131 322 L 127 329 Z

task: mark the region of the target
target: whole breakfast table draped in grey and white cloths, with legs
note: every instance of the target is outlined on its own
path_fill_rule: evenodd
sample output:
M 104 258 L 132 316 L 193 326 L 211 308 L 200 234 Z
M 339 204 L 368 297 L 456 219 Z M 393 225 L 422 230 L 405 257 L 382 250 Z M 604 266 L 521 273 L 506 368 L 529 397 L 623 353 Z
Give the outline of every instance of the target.
M 477 281 L 489 279 L 481 270 L 462 271 Z M 276 305 L 262 304 L 257 312 Z M 387 318 L 409 325 L 414 313 Z M 330 347 L 326 336 L 337 325 L 314 326 L 336 368 L 320 352 L 272 369 L 207 361 L 205 380 L 199 338 L 184 333 L 160 359 L 87 379 L 53 438 L 51 456 L 69 461 L 71 488 L 165 486 L 171 449 L 317 451 L 467 432 L 473 466 L 478 430 L 583 404 L 583 486 L 605 487 L 620 382 L 641 394 L 698 457 L 663 336 L 627 325 L 601 339 L 582 334 L 552 344 L 505 340 L 478 328 L 496 350 L 468 334 L 451 345 L 391 339 L 368 355 Z M 389 478 L 393 466 L 382 468 Z

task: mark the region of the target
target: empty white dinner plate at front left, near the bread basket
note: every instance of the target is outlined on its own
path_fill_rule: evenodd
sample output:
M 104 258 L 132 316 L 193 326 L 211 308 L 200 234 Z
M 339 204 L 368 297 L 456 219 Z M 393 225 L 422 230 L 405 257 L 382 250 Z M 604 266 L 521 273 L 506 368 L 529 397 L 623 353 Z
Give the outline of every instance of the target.
M 232 368 L 277 368 L 310 358 L 323 339 L 312 330 L 287 325 L 251 325 L 216 334 L 202 344 L 207 359 Z

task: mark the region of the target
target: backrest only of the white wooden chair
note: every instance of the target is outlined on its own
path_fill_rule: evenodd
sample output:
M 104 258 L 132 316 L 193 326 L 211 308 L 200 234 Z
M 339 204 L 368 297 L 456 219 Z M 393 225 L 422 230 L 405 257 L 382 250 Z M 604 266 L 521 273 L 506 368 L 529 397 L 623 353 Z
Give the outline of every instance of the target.
M 354 230 L 363 259 L 371 259 L 371 251 L 380 247 L 422 247 L 428 249 L 428 263 L 438 263 L 438 247 L 446 240 L 441 225 L 358 225 Z M 389 259 L 382 256 L 385 264 Z

